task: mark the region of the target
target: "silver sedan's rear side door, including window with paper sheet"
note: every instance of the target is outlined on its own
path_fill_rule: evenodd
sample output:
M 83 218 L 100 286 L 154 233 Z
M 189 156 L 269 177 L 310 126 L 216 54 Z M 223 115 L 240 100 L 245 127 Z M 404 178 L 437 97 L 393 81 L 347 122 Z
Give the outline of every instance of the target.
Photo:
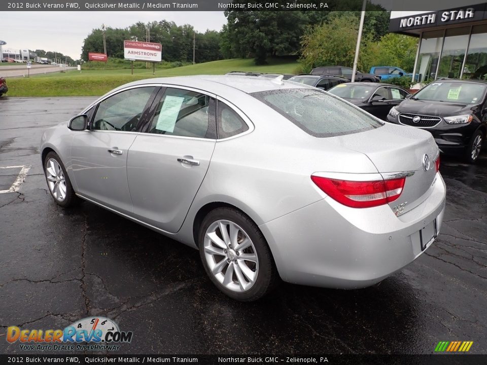
M 168 87 L 156 99 L 128 154 L 135 218 L 179 231 L 215 149 L 215 105 L 215 95 L 182 87 Z

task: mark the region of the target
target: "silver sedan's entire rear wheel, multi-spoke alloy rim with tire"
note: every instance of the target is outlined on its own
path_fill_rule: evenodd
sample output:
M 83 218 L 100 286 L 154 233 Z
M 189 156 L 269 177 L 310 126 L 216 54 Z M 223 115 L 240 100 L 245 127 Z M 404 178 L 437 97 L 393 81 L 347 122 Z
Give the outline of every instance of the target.
M 229 297 L 255 301 L 277 278 L 270 249 L 257 225 L 232 208 L 218 208 L 203 220 L 200 256 L 213 283 Z

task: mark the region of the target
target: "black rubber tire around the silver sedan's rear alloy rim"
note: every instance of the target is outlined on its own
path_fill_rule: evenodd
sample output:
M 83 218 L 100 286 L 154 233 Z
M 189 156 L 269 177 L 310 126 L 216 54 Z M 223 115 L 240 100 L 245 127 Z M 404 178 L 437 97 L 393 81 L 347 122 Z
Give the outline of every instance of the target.
M 241 231 L 243 231 L 243 234 L 247 235 L 253 244 L 253 247 L 251 247 L 250 250 L 253 251 L 255 248 L 255 254 L 257 255 L 258 262 L 257 276 L 254 280 L 253 285 L 247 290 L 237 292 L 225 287 L 216 278 L 216 276 L 212 273 L 210 267 L 208 266 L 204 248 L 205 234 L 208 228 L 210 228 L 212 225 L 220 220 L 229 221 L 239 226 L 241 228 Z M 257 225 L 251 220 L 250 217 L 248 217 L 246 214 L 242 213 L 239 210 L 230 207 L 222 207 L 214 209 L 210 213 L 208 213 L 201 223 L 198 234 L 198 246 L 201 262 L 203 263 L 206 274 L 208 275 L 208 277 L 210 277 L 210 280 L 212 280 L 212 282 L 230 298 L 241 302 L 253 302 L 268 294 L 271 290 L 275 288 L 277 283 L 279 283 L 279 275 L 277 274 L 277 269 L 272 258 L 272 253 L 270 252 L 269 246 L 267 245 L 267 242 L 262 235 L 262 232 L 259 230 L 259 227 L 257 227 Z M 228 246 L 227 249 L 228 251 L 230 251 Z M 242 255 L 243 253 L 240 253 L 240 255 Z M 239 253 L 236 254 L 238 255 Z M 221 258 L 227 260 L 226 257 Z M 238 256 L 235 257 L 235 260 L 238 261 Z M 226 268 L 230 267 L 230 264 L 226 265 L 228 265 Z M 232 275 L 236 278 L 236 273 L 233 273 Z M 233 284 L 236 285 L 235 282 Z

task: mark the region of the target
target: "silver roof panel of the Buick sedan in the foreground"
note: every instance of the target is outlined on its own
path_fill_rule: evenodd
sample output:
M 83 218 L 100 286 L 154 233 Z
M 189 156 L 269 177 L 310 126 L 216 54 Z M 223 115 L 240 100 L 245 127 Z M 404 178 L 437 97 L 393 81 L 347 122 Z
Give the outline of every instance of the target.
M 275 82 L 274 79 L 262 78 L 257 76 L 197 75 L 144 79 L 122 85 L 115 90 L 122 89 L 128 86 L 146 84 L 171 84 L 175 86 L 193 87 L 217 95 L 224 95 L 226 91 L 229 91 L 229 89 L 239 90 L 249 94 L 254 92 L 277 89 L 311 88 L 307 85 L 298 86 L 296 83 L 287 82 L 285 80 L 281 82 Z

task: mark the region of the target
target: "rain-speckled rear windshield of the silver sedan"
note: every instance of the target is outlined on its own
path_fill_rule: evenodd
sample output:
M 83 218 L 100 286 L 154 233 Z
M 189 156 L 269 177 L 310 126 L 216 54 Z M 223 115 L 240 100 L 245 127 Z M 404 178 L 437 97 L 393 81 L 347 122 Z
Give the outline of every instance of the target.
M 252 96 L 315 137 L 333 137 L 383 125 L 361 109 L 316 89 L 281 89 Z

